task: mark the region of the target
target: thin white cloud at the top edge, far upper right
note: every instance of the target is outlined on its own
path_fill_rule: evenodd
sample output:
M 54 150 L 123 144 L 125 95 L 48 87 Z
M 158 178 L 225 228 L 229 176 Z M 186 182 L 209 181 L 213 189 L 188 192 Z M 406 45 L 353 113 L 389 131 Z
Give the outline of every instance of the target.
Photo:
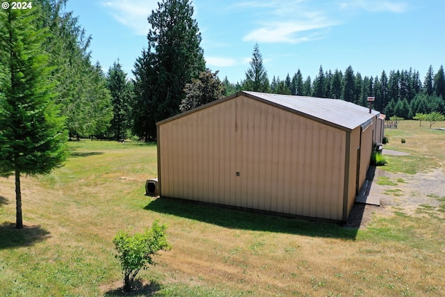
M 341 9 L 359 8 L 369 12 L 405 13 L 409 6 L 403 1 L 354 0 L 340 3 Z

